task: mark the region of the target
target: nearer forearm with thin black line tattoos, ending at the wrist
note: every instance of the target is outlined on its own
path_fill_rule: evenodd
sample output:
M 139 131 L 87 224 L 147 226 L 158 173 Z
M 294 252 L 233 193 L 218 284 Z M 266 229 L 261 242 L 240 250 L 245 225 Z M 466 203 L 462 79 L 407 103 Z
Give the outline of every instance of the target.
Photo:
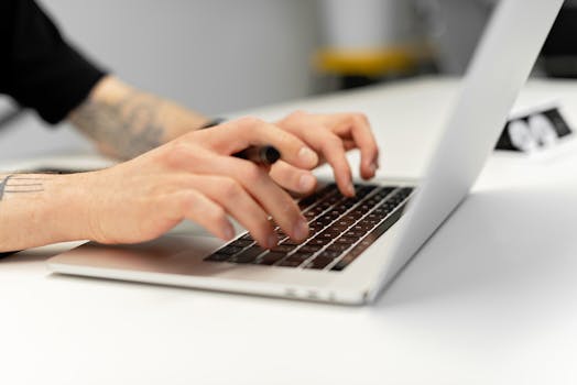
M 87 239 L 80 178 L 0 174 L 0 252 Z

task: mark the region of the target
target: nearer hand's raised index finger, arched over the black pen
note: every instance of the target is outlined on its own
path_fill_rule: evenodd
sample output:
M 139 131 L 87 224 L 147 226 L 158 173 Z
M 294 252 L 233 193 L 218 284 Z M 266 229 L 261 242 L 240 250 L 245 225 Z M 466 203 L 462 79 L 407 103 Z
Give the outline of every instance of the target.
M 313 168 L 318 163 L 317 154 L 296 135 L 255 118 L 227 122 L 210 129 L 210 144 L 220 154 L 231 155 L 251 145 L 272 145 L 283 161 L 296 167 Z

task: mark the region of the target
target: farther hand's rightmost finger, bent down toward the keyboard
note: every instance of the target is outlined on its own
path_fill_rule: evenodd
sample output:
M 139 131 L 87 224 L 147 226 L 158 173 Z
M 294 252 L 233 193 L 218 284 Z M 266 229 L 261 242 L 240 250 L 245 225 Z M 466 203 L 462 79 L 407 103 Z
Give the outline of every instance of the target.
M 379 147 L 377 141 L 364 114 L 353 113 L 349 119 L 352 139 L 361 153 L 360 174 L 364 179 L 370 179 L 378 168 Z

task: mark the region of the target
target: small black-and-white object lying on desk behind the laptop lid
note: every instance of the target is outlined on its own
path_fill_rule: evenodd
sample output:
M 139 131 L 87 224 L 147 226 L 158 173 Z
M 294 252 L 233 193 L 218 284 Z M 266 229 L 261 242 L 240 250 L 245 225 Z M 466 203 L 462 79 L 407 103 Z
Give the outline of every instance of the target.
M 530 153 L 553 146 L 559 139 L 571 133 L 560 111 L 549 108 L 511 119 L 501 133 L 496 150 Z

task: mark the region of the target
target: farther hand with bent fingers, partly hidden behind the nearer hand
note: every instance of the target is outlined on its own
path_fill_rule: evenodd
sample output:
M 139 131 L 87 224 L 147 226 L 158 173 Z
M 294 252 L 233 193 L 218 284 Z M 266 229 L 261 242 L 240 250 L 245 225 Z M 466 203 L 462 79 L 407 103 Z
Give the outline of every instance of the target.
M 350 165 L 346 157 L 347 151 L 359 148 L 361 177 L 363 179 L 374 177 L 379 167 L 379 148 L 364 114 L 312 114 L 297 111 L 276 124 L 320 154 L 320 162 L 330 164 L 337 185 L 344 195 L 355 195 Z M 316 179 L 311 172 L 282 161 L 274 164 L 271 176 L 281 186 L 302 194 L 309 193 L 316 185 Z

